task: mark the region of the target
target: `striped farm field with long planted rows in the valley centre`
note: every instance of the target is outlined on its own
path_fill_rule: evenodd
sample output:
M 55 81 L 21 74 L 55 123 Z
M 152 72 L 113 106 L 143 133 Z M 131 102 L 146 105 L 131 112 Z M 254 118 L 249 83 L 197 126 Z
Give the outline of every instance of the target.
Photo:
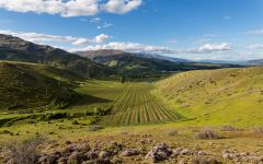
M 113 103 L 111 115 L 102 124 L 125 126 L 136 124 L 175 121 L 182 118 L 169 109 L 153 94 L 147 83 L 130 83 Z

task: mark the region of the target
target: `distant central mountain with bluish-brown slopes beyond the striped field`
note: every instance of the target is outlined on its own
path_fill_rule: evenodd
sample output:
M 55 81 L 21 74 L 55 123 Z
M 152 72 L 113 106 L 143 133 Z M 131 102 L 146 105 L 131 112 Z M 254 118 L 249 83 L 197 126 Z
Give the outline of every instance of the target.
M 78 51 L 76 52 L 82 57 L 92 59 L 93 61 L 103 63 L 107 67 L 114 68 L 125 74 L 158 74 L 164 72 L 176 72 L 198 69 L 217 69 L 222 67 L 232 67 L 230 65 L 213 65 L 190 62 L 188 60 L 174 59 L 178 62 L 160 59 L 160 56 L 146 56 L 122 50 L 93 50 L 93 51 Z M 165 58 L 165 57 L 162 57 Z M 179 61 L 180 60 L 180 61 Z

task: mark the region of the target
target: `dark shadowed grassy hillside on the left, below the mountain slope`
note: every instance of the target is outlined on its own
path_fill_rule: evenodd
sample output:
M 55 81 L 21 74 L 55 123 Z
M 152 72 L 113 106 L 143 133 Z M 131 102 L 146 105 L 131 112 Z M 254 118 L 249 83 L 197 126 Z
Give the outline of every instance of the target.
M 0 109 L 67 106 L 75 93 L 69 84 L 54 78 L 81 80 L 80 75 L 57 68 L 1 61 Z

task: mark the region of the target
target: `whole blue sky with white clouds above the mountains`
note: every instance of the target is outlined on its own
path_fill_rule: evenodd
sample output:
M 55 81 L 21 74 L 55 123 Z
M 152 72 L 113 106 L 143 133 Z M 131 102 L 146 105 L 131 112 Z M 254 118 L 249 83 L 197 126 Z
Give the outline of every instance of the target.
M 263 0 L 0 0 L 0 33 L 69 51 L 263 58 Z

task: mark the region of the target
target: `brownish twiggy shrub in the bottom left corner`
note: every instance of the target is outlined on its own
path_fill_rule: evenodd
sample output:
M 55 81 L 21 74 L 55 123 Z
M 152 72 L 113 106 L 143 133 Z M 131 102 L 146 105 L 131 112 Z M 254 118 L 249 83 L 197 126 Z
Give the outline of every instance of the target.
M 13 164 L 35 164 L 41 156 L 37 148 L 43 144 L 45 138 L 35 137 L 21 143 L 11 143 L 7 147 L 10 152 L 10 159 Z

